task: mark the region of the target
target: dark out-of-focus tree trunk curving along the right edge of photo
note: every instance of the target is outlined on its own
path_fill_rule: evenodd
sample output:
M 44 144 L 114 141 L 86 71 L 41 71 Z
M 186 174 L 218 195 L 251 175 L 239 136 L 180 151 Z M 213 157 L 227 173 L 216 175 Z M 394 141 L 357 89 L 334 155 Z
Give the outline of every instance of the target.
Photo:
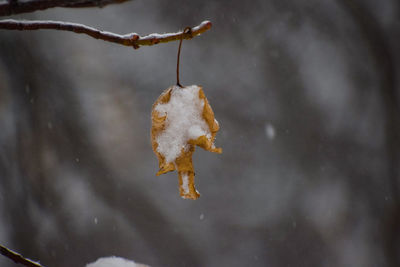
M 396 83 L 397 68 L 393 44 L 390 36 L 385 33 L 380 22 L 368 8 L 356 0 L 338 1 L 358 25 L 365 43 L 373 56 L 375 68 L 380 73 L 380 88 L 382 106 L 385 114 L 385 150 L 387 160 L 387 183 L 391 189 L 390 204 L 385 207 L 385 217 L 382 218 L 382 236 L 388 265 L 400 266 L 400 95 Z M 396 42 L 396 40 L 394 41 Z M 397 48 L 400 43 L 397 41 Z M 396 47 L 396 44 L 395 44 Z

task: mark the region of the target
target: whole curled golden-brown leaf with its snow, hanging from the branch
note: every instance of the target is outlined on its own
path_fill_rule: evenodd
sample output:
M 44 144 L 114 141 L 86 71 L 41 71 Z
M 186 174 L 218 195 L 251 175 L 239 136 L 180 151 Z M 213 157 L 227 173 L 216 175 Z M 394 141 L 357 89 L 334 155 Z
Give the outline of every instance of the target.
M 222 153 L 214 145 L 219 130 L 214 112 L 201 87 L 171 86 L 153 105 L 151 142 L 160 170 L 157 175 L 177 170 L 179 193 L 197 199 L 192 154 L 195 146 Z

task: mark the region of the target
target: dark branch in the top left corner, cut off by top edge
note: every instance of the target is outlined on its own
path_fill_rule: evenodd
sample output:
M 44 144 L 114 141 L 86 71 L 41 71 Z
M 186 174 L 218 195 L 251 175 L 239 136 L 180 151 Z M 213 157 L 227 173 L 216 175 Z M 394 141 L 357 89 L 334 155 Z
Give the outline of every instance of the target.
M 0 4 L 0 16 L 29 13 L 53 7 L 103 7 L 109 4 L 119 4 L 128 0 L 8 0 Z

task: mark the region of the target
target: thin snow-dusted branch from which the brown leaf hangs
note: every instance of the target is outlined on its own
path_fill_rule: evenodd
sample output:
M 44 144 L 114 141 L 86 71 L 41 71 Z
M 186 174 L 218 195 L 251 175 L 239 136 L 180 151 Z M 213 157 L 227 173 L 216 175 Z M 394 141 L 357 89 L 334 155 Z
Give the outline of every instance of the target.
M 40 30 L 52 29 L 60 31 L 71 31 L 75 33 L 87 34 L 93 38 L 101 39 L 107 42 L 113 42 L 125 46 L 132 46 L 137 49 L 144 45 L 154 45 L 158 43 L 167 43 L 182 39 L 192 39 L 193 37 L 207 31 L 211 28 L 210 21 L 203 21 L 200 25 L 191 28 L 191 31 L 176 33 L 152 33 L 146 36 L 140 36 L 136 33 L 128 33 L 124 35 L 115 34 L 106 31 L 100 31 L 92 27 L 78 23 L 62 22 L 62 21 L 18 21 L 13 19 L 0 20 L 0 29 L 6 30 Z

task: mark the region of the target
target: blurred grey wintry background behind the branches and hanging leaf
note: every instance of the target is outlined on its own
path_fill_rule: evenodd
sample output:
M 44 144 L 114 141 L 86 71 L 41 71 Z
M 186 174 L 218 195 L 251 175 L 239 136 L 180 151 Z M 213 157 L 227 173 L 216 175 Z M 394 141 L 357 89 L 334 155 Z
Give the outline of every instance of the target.
M 156 177 L 153 102 L 178 42 L 133 50 L 0 31 L 0 243 L 48 267 L 400 266 L 397 0 L 134 0 L 12 18 L 174 32 L 223 154 L 198 149 L 196 201 Z M 0 257 L 0 265 L 14 267 Z

